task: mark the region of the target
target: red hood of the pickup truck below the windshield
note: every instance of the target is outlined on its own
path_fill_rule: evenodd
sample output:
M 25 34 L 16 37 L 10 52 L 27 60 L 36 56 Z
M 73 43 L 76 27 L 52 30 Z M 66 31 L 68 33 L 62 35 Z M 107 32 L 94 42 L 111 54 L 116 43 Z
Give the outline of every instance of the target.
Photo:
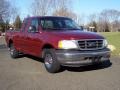
M 103 36 L 94 33 L 94 32 L 84 32 L 84 31 L 53 31 L 51 32 L 53 36 L 56 38 L 61 39 L 72 39 L 72 40 L 79 40 L 79 39 L 104 39 Z

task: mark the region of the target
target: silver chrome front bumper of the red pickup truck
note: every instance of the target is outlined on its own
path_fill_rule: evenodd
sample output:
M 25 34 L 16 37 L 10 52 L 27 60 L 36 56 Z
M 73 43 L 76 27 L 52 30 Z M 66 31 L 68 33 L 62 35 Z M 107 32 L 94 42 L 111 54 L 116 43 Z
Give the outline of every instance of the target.
M 108 61 L 110 50 L 96 51 L 56 50 L 57 60 L 64 66 L 85 66 Z

